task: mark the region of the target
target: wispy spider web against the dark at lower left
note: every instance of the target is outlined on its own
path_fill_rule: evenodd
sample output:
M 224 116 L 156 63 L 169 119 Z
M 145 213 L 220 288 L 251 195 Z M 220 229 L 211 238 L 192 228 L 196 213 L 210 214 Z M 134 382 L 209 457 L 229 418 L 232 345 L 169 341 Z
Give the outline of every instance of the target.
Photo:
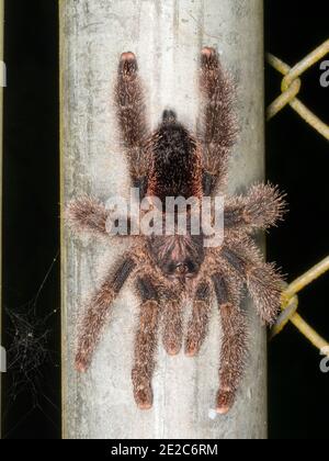
M 45 412 L 42 402 L 46 401 L 59 412 L 56 404 L 44 392 L 42 384 L 46 366 L 59 367 L 56 362 L 56 352 L 49 349 L 54 316 L 58 315 L 58 310 L 53 310 L 45 315 L 41 315 L 37 310 L 39 297 L 58 261 L 58 255 L 59 251 L 31 301 L 15 308 L 4 306 L 9 385 L 7 385 L 3 419 L 5 420 L 12 405 L 23 393 L 30 400 L 30 409 L 24 412 L 14 427 L 9 428 L 3 438 L 14 431 L 36 409 L 41 411 L 58 429 L 56 423 Z

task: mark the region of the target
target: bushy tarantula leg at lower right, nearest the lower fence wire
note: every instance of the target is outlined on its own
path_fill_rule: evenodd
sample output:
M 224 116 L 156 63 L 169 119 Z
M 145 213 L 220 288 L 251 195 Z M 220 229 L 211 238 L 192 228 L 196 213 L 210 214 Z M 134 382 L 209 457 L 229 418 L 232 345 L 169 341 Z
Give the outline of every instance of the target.
M 274 265 L 262 260 L 261 254 L 249 237 L 231 241 L 220 252 L 234 270 L 235 278 L 247 283 L 261 321 L 272 325 L 280 312 L 283 279 Z

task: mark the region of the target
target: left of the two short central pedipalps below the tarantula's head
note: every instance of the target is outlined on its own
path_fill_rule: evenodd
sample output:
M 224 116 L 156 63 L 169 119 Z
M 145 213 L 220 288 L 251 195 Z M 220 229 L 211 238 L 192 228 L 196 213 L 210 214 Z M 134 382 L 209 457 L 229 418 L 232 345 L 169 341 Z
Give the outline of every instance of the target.
M 177 356 L 182 348 L 182 302 L 175 297 L 166 297 L 162 313 L 162 344 L 170 356 Z

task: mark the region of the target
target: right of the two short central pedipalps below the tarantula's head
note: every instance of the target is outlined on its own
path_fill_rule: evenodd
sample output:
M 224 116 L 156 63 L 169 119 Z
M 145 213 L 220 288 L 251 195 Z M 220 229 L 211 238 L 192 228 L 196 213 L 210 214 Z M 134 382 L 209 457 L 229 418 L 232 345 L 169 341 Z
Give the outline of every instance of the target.
M 185 353 L 195 356 L 206 337 L 211 315 L 211 289 L 207 282 L 202 282 L 196 288 L 193 301 L 192 317 L 189 322 L 185 340 Z

